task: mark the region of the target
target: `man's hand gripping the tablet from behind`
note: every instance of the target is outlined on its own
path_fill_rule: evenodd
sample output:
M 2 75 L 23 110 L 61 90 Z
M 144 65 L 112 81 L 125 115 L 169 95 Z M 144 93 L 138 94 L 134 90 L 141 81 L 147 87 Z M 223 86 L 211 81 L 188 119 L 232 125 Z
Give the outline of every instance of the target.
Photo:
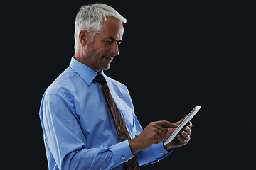
M 182 121 L 186 118 L 186 116 L 183 119 L 179 120 L 178 122 L 174 123 L 174 125 L 180 125 L 182 123 Z M 192 123 L 191 123 L 191 121 L 189 121 L 183 127 L 183 129 L 180 132 L 178 132 L 178 135 L 176 135 L 174 140 L 169 142 L 169 144 L 164 145 L 164 148 L 166 150 L 168 150 L 171 148 L 176 148 L 176 147 L 181 147 L 183 145 L 186 145 L 188 143 L 188 141 L 191 139 L 191 137 L 190 137 L 192 134 L 191 127 L 192 127 Z M 164 138 L 164 142 L 166 142 L 166 140 L 174 132 L 174 130 L 175 130 L 174 128 L 168 128 L 168 132 L 166 134 L 166 137 Z

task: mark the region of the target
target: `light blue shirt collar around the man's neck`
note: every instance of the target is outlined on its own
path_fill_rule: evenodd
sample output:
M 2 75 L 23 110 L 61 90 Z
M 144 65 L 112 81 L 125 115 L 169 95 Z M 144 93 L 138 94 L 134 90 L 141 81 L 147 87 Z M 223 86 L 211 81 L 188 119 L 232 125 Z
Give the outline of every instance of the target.
M 93 69 L 88 67 L 85 64 L 82 64 L 81 62 L 78 62 L 78 60 L 75 60 L 75 56 L 71 58 L 70 67 L 77 72 L 82 79 L 85 80 L 85 82 L 90 86 L 93 79 L 97 76 L 97 74 L 102 74 L 105 76 L 103 71 L 100 71 L 100 73 L 95 72 Z

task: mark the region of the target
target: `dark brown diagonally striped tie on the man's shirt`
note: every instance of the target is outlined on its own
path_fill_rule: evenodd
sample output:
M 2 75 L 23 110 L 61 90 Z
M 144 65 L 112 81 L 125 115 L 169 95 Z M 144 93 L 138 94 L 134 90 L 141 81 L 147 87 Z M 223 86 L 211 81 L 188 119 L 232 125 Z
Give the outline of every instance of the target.
M 103 94 L 107 101 L 107 106 L 110 109 L 110 113 L 112 115 L 112 118 L 114 119 L 114 123 L 117 128 L 119 142 L 122 142 L 124 140 L 131 140 L 131 137 L 129 136 L 129 132 L 124 124 L 124 120 L 122 119 L 122 115 L 120 114 L 119 109 L 117 108 L 117 105 L 114 102 L 114 98 L 112 98 L 112 95 L 110 94 L 110 89 L 107 86 L 107 81 L 100 74 L 98 74 L 95 77 L 95 81 L 97 81 L 98 83 L 100 83 L 102 85 L 102 91 L 103 91 Z M 136 154 L 134 154 L 134 157 L 132 159 L 128 160 L 128 162 L 125 164 L 125 166 L 126 166 L 127 170 L 139 169 L 139 164 L 138 164 Z

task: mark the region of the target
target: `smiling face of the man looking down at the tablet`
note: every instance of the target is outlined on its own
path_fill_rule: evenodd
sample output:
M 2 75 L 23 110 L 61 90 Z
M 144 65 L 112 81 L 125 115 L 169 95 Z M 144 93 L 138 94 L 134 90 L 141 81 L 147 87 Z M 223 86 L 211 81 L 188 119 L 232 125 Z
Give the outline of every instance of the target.
M 107 17 L 102 25 L 102 31 L 95 35 L 94 41 L 89 42 L 83 56 L 89 67 L 96 72 L 110 69 L 114 56 L 119 55 L 118 45 L 122 42 L 124 27 L 113 17 Z

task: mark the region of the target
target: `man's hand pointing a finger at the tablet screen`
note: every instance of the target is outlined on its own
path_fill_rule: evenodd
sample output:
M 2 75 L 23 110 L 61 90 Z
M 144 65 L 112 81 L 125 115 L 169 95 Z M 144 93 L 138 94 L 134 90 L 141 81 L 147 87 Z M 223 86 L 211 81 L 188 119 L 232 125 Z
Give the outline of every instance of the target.
M 129 140 L 129 146 L 131 148 L 132 154 L 135 154 L 141 150 L 148 149 L 154 143 L 158 144 L 162 142 L 164 139 L 168 138 L 166 138 L 166 134 L 169 132 L 169 129 L 175 130 L 174 128 L 177 127 L 178 125 L 170 123 L 166 120 L 149 123 L 149 125 L 144 128 L 139 136 Z

